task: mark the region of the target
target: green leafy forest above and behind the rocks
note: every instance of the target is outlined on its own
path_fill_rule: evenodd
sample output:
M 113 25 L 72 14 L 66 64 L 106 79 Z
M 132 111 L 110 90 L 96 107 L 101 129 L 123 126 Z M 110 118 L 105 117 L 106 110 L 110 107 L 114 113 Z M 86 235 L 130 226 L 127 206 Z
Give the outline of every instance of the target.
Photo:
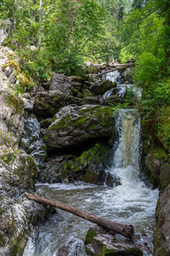
M 50 79 L 52 71 L 83 76 L 84 61 L 135 58 L 133 83 L 143 90 L 137 102 L 143 122 L 154 123 L 152 129 L 168 148 L 169 5 L 168 0 L 3 0 L 1 20 L 12 22 L 4 45 L 20 55 L 28 88 L 35 80 Z M 22 92 L 23 85 L 16 90 Z

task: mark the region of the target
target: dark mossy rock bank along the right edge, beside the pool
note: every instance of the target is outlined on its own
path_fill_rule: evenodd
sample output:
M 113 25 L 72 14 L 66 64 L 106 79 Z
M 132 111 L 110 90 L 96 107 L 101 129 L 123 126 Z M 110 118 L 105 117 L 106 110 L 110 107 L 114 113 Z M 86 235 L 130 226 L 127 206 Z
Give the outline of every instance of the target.
M 154 232 L 154 256 L 168 256 L 170 253 L 170 162 L 167 149 L 154 136 L 144 135 L 144 160 L 148 170 L 150 181 L 157 184 L 161 190 L 161 196 L 156 207 L 156 230 Z

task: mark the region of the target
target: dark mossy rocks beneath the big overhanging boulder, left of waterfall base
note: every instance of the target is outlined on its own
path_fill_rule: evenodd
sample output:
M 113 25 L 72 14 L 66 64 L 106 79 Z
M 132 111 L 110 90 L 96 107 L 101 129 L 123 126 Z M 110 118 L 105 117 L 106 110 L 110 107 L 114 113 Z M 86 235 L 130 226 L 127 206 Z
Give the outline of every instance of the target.
M 72 154 L 58 155 L 45 163 L 38 179 L 42 183 L 81 180 L 113 187 L 118 184 L 118 181 L 105 172 L 106 166 L 111 166 L 108 160 L 111 151 L 107 145 L 96 143 L 93 148 L 83 151 L 78 157 Z

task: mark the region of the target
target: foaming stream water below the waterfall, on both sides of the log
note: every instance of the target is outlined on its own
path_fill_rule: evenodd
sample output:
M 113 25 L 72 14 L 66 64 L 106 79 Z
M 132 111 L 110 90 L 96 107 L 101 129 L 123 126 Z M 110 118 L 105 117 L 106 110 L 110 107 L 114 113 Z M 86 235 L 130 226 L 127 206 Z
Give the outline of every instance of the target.
M 129 168 L 120 170 L 123 184 L 116 188 L 82 182 L 38 183 L 37 193 L 112 222 L 133 224 L 135 235 L 139 235 L 141 241 L 152 247 L 157 191 L 145 188 L 144 183 L 133 182 L 130 174 Z M 57 212 L 58 214 L 54 214 L 44 224 L 35 227 L 23 256 L 54 256 L 59 246 L 73 237 L 83 243 L 89 227 L 94 224 L 70 212 L 60 209 Z M 124 241 L 127 238 L 119 236 L 119 240 Z M 148 256 L 144 254 L 146 255 Z

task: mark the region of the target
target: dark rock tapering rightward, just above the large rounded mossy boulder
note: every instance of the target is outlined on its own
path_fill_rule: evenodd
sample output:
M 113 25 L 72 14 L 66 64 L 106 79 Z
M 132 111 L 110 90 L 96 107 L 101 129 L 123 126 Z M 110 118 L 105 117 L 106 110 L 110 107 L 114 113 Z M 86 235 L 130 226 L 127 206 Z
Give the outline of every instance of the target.
M 49 90 L 48 92 L 38 92 L 35 97 L 33 113 L 40 118 L 54 117 L 54 114 L 60 108 L 76 104 L 78 106 L 84 104 L 103 104 L 104 100 L 101 96 L 90 96 L 87 98 L 79 98 L 72 95 L 66 95 L 59 90 Z

